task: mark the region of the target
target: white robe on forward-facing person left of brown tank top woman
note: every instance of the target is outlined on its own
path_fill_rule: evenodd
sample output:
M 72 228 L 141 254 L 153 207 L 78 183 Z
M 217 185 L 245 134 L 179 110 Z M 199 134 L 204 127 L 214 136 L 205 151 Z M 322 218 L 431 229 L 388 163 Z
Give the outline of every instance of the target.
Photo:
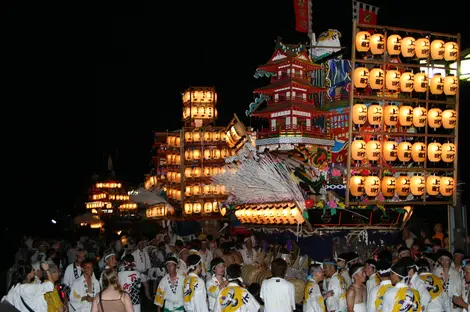
M 90 312 L 91 311 L 91 302 L 82 301 L 82 298 L 85 296 L 90 296 L 95 298 L 96 295 L 101 291 L 100 282 L 96 279 L 95 275 L 91 276 L 91 289 L 88 289 L 85 276 L 82 276 L 76 279 L 72 283 L 70 291 L 70 301 L 69 301 L 69 311 L 77 312 Z

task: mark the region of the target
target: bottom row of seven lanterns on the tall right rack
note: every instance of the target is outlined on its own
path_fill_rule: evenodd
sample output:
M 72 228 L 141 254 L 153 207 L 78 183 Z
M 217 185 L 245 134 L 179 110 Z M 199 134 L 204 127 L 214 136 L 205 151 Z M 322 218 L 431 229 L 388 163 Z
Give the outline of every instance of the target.
M 392 176 L 383 177 L 380 180 L 377 176 L 352 176 L 349 180 L 349 191 L 353 196 L 367 195 L 376 197 L 382 193 L 384 197 L 393 197 L 395 194 L 406 197 L 409 194 L 413 196 L 422 196 L 426 194 L 431 196 L 452 196 L 454 194 L 454 178 L 448 176 L 430 175 L 427 178 L 421 175 L 415 175 L 411 178 L 407 175 L 401 175 L 397 178 Z

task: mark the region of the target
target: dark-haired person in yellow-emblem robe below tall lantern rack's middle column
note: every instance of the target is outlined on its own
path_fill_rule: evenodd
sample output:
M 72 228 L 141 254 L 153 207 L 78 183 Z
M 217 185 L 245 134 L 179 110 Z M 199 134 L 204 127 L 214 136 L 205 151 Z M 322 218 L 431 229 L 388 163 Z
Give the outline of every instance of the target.
M 407 283 L 406 266 L 395 263 L 390 272 L 393 287 L 385 292 L 382 312 L 421 312 L 419 292 Z

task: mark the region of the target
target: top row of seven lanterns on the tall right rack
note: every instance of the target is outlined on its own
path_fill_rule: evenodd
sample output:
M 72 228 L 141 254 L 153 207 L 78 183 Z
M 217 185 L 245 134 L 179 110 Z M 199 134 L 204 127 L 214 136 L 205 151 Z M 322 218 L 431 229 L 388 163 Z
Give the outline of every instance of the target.
M 415 39 L 411 36 L 402 38 L 393 34 L 388 36 L 376 33 L 370 34 L 368 31 L 359 31 L 356 34 L 356 49 L 358 52 L 371 52 L 374 55 L 381 55 L 385 51 L 390 55 L 402 55 L 403 57 L 417 57 L 420 59 L 431 56 L 433 60 L 457 60 L 459 47 L 456 42 L 444 42 L 435 39 L 432 42 L 428 38 Z

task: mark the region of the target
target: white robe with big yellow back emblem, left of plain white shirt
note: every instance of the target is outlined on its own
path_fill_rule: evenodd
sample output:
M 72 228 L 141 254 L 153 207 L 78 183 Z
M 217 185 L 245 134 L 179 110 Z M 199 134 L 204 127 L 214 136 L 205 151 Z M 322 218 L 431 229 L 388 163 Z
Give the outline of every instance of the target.
M 217 298 L 213 312 L 258 312 L 259 302 L 248 290 L 230 282 Z

